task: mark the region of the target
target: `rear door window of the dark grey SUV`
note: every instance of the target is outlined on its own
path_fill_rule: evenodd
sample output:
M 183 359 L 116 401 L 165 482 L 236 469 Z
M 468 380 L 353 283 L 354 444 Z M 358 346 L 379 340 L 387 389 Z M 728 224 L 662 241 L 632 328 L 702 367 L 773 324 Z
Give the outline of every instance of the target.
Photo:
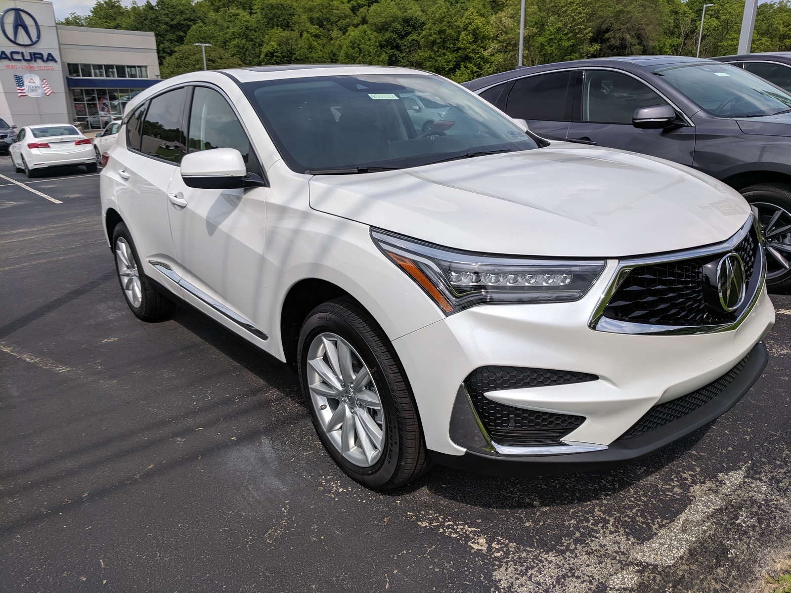
M 568 121 L 570 115 L 566 114 L 566 95 L 570 77 L 570 70 L 566 70 L 538 74 L 514 82 L 505 113 L 521 119 Z

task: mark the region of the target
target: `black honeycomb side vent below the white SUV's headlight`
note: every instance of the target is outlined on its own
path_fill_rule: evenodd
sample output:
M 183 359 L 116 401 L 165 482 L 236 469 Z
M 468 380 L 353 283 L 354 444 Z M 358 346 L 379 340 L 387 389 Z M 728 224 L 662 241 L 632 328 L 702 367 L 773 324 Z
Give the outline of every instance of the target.
M 487 391 L 584 383 L 597 379 L 598 376 L 585 372 L 488 366 L 475 369 L 464 380 L 464 384 L 492 440 L 499 444 L 536 446 L 562 444 L 560 439 L 581 425 L 585 417 L 505 406 L 483 394 Z

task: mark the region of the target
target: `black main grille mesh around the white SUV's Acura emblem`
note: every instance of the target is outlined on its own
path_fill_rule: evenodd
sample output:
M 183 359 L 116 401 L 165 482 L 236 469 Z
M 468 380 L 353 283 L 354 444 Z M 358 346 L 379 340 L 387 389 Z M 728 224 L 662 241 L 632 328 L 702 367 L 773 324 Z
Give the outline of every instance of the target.
M 733 249 L 744 262 L 747 283 L 755 268 L 758 242 L 755 230 Z M 686 259 L 680 262 L 655 263 L 631 270 L 612 295 L 604 317 L 632 323 L 668 326 L 705 326 L 731 323 L 739 311 L 717 311 L 706 304 L 703 266 L 725 255 Z M 745 298 L 745 302 L 748 297 Z

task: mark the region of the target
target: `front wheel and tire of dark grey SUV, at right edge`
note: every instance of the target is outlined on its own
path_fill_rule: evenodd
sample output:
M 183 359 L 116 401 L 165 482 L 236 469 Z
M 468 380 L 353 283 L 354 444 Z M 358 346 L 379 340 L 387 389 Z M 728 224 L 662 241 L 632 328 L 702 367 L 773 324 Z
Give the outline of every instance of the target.
M 753 212 L 757 211 L 761 223 L 766 249 L 766 287 L 771 293 L 787 293 L 791 290 L 791 186 L 756 183 L 744 187 L 741 195 Z

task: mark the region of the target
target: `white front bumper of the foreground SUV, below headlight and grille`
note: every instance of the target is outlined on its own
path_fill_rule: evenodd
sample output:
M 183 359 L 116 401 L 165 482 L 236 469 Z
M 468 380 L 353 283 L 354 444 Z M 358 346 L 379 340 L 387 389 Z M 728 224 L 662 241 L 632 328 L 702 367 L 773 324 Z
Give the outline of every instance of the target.
M 717 380 L 755 349 L 756 355 L 750 357 L 750 364 L 735 383 L 747 387 L 733 402 L 747 391 L 766 364 L 765 349 L 756 345 L 774 324 L 774 308 L 763 286 L 755 305 L 737 327 L 729 330 L 688 335 L 593 330 L 589 327 L 592 312 L 616 269 L 617 263 L 608 263 L 594 289 L 572 303 L 483 305 L 394 340 L 418 404 L 426 445 L 434 459 L 454 466 L 464 463 L 467 469 L 475 466 L 470 466 L 469 459 L 480 457 L 481 463 L 491 463 L 493 467 L 503 463 L 559 465 L 566 466 L 565 471 L 587 463 L 637 459 L 722 414 L 729 406 L 720 407 L 720 402 L 725 402 L 734 389 L 738 391 L 737 387 L 730 387 L 729 395 L 718 396 L 716 403 L 710 402 L 702 411 L 661 429 L 616 443 L 619 436 L 653 406 Z M 461 385 L 476 368 L 487 365 L 557 369 L 599 377 L 586 383 L 510 389 L 486 395 L 523 410 L 584 417 L 581 425 L 562 436 L 562 444 L 568 445 L 566 451 L 553 449 L 544 456 L 538 450 L 527 455 L 499 448 L 490 451 L 494 453 L 490 455 L 480 448 L 474 452 L 475 448 L 451 435 L 453 409 Z M 711 414 L 709 410 L 718 411 Z M 684 432 L 683 427 L 698 417 L 707 419 Z M 663 436 L 666 432 L 668 435 Z M 585 453 L 573 452 L 586 449 Z M 562 452 L 571 454 L 557 455 Z

